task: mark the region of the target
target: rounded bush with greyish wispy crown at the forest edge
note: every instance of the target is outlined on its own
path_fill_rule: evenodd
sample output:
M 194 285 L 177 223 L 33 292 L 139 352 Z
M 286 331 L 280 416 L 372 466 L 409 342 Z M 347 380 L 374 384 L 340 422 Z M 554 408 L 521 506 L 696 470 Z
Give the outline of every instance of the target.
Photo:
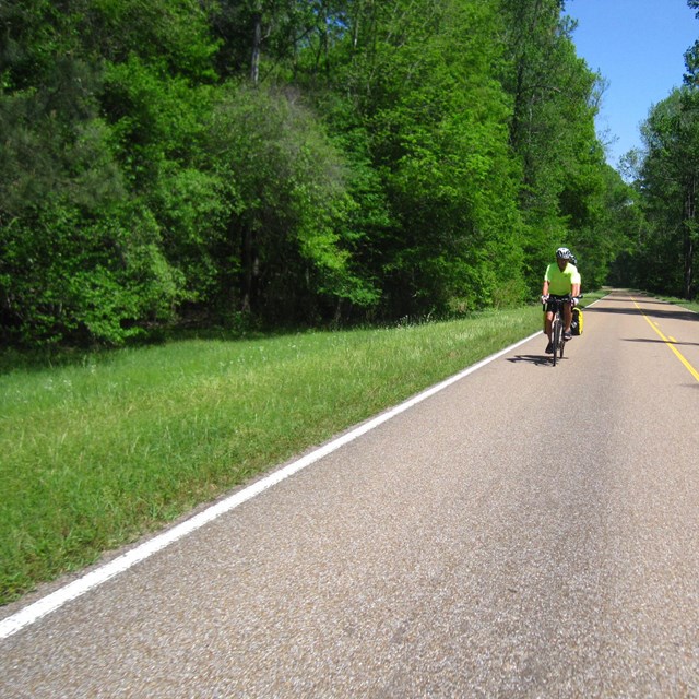
M 240 250 L 244 309 L 294 318 L 318 293 L 371 299 L 341 238 L 354 205 L 344 162 L 296 96 L 229 85 L 209 149 L 213 170 L 236 188 L 227 234 L 229 254 Z

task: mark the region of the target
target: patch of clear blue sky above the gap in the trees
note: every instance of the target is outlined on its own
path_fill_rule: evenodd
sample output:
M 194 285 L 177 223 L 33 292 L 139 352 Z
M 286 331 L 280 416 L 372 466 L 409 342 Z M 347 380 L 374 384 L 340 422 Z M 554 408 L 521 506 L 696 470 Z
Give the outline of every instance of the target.
M 684 52 L 699 38 L 699 20 L 686 0 L 567 0 L 578 20 L 578 56 L 606 79 L 597 133 L 616 166 L 641 145 L 639 125 L 653 104 L 682 84 Z

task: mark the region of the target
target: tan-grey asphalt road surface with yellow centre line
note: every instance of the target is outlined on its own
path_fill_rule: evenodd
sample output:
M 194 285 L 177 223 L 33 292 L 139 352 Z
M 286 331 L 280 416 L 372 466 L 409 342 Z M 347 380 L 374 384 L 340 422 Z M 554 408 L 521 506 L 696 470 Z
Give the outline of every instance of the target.
M 0 640 L 0 696 L 699 697 L 699 316 L 545 344 Z

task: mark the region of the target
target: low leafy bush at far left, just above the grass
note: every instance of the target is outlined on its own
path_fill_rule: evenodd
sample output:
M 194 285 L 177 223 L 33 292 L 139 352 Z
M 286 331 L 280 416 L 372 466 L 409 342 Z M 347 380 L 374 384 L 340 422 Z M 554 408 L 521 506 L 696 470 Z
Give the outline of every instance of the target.
M 121 344 L 145 321 L 166 320 L 180 282 L 146 212 L 115 208 L 87 224 L 79 209 L 45 203 L 4 229 L 0 291 L 10 339 Z

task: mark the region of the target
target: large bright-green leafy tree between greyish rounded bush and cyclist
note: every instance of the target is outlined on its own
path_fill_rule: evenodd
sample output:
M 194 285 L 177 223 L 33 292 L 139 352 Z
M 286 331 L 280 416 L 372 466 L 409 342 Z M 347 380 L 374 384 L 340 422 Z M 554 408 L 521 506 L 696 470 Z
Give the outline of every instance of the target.
M 381 280 L 383 312 L 445 313 L 521 298 L 508 104 L 489 38 L 497 4 L 324 4 L 343 29 L 323 37 L 332 71 L 318 71 L 318 38 L 300 55 L 298 74 L 307 71 L 321 102 L 333 92 L 346 105 L 330 112 L 332 127 L 345 142 L 366 144 L 380 178 L 372 201 L 384 202 L 384 214 L 366 228 L 364 259 Z

